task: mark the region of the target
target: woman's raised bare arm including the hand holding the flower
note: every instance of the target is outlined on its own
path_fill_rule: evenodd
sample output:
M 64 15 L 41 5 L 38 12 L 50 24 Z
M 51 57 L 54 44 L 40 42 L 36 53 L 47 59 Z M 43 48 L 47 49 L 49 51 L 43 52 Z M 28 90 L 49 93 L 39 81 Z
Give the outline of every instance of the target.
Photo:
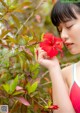
M 58 105 L 59 109 L 54 110 L 54 113 L 75 113 L 72 103 L 69 98 L 66 82 L 63 78 L 66 71 L 62 71 L 57 57 L 49 59 L 47 54 L 41 48 L 38 48 L 37 62 L 49 70 L 49 75 L 52 81 L 52 97 L 53 104 Z

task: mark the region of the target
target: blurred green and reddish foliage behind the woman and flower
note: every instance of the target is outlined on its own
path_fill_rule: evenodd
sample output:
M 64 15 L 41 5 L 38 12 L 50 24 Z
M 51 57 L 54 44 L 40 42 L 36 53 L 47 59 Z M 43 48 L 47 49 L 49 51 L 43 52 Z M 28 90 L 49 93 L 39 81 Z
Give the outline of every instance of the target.
M 34 50 L 43 33 L 59 36 L 50 20 L 55 2 L 0 0 L 0 105 L 8 105 L 9 113 L 52 113 L 51 81 Z M 80 59 L 65 47 L 58 58 L 61 68 Z

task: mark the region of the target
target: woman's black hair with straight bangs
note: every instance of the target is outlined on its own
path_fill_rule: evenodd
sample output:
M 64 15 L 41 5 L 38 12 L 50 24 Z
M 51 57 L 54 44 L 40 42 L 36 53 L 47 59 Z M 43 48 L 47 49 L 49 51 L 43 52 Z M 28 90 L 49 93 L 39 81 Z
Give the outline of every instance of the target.
M 56 2 L 51 11 L 51 21 L 55 26 L 61 22 L 66 22 L 72 18 L 77 19 L 75 12 L 80 14 L 79 3 L 61 3 L 60 0 Z

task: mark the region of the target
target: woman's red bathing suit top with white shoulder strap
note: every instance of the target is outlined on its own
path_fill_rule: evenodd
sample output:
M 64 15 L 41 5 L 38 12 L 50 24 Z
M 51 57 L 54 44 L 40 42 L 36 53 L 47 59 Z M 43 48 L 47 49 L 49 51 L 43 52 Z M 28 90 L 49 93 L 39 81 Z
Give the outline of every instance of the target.
M 70 99 L 76 113 L 80 113 L 80 83 L 76 78 L 76 64 L 73 65 L 73 84 L 70 90 Z

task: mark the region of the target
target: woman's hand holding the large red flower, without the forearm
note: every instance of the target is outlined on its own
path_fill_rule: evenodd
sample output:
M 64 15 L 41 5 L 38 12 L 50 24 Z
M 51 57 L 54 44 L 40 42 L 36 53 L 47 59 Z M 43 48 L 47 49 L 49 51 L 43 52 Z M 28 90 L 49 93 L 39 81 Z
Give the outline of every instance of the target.
M 49 56 L 47 56 L 47 53 L 40 47 L 36 49 L 36 52 L 36 60 L 40 65 L 44 66 L 48 70 L 50 70 L 51 68 L 60 67 L 57 57 L 49 58 Z

